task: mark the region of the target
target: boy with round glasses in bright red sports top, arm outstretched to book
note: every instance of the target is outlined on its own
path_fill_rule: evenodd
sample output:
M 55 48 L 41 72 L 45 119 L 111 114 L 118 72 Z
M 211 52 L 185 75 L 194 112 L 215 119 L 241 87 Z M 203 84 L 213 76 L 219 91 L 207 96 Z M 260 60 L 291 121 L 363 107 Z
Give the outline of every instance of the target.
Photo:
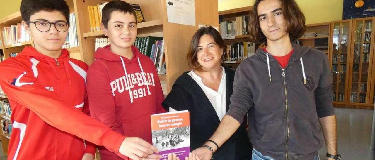
M 142 139 L 86 115 L 88 67 L 61 49 L 69 28 L 66 2 L 23 0 L 21 15 L 34 47 L 0 63 L 0 85 L 12 107 L 8 160 L 93 160 L 94 144 L 132 159 L 159 158 Z

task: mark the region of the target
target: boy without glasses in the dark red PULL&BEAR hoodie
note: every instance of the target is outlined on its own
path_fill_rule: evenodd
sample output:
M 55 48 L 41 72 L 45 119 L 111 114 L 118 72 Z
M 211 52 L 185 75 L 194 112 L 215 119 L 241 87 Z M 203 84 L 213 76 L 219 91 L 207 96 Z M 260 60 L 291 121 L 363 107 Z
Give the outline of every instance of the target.
M 152 144 L 150 115 L 165 112 L 164 95 L 153 62 L 133 46 L 133 8 L 124 1 L 110 1 L 102 10 L 101 27 L 111 44 L 96 50 L 87 72 L 91 116 L 121 135 Z M 103 147 L 99 152 L 102 160 L 120 159 Z

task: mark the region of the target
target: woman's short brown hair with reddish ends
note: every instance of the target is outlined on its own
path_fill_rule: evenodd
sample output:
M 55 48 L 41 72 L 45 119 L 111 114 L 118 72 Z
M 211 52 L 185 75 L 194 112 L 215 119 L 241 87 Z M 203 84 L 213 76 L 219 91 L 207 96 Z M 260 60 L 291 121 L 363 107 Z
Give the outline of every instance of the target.
M 189 64 L 189 67 L 197 71 L 203 71 L 202 66 L 199 65 L 198 63 L 197 51 L 198 51 L 199 39 L 201 39 L 201 37 L 205 34 L 210 35 L 214 39 L 217 46 L 223 49 L 224 55 L 226 53 L 225 43 L 223 39 L 221 38 L 220 33 L 215 28 L 211 26 L 199 28 L 198 31 L 195 32 L 194 36 L 192 37 L 190 41 L 190 49 L 189 49 L 189 52 L 187 53 L 187 64 Z

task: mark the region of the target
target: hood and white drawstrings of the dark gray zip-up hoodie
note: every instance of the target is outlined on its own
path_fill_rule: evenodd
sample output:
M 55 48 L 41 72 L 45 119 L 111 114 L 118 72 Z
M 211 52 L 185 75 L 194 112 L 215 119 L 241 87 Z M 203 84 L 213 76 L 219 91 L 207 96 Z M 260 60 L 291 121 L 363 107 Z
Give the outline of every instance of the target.
M 298 59 L 301 62 L 301 70 L 303 75 L 304 84 L 306 84 L 306 73 L 305 73 L 305 67 L 303 66 L 303 56 L 306 55 L 306 53 L 310 50 L 310 47 L 304 47 L 300 46 L 297 43 L 292 43 L 292 47 L 294 49 L 294 52 L 288 62 L 288 65 L 295 63 Z M 258 48 L 257 52 L 255 52 L 255 55 L 260 58 L 262 61 L 267 62 L 267 68 L 268 68 L 268 75 L 270 77 L 270 82 L 272 82 L 272 75 L 270 70 L 270 62 L 277 61 L 275 57 L 273 57 L 270 53 L 266 52 L 265 50 Z M 279 63 L 279 62 L 277 62 Z M 287 67 L 288 67 L 287 65 Z M 287 68 L 285 67 L 285 68 Z M 285 76 L 284 69 L 283 70 L 283 76 Z

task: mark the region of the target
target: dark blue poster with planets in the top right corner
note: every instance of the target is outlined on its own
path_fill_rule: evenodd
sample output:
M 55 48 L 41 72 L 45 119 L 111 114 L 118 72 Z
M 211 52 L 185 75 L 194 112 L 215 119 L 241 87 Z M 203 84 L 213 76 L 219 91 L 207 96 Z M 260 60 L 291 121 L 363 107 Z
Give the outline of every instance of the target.
M 375 16 L 375 0 L 344 0 L 342 19 Z

